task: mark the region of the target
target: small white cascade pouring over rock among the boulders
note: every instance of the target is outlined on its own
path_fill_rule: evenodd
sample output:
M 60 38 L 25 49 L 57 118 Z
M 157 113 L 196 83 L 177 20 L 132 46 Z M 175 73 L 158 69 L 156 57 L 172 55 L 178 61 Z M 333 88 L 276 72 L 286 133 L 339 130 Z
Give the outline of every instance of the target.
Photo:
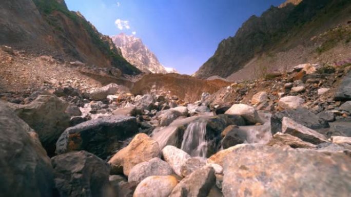
M 181 149 L 191 157 L 206 157 L 206 124 L 203 120 L 191 122 L 184 132 Z

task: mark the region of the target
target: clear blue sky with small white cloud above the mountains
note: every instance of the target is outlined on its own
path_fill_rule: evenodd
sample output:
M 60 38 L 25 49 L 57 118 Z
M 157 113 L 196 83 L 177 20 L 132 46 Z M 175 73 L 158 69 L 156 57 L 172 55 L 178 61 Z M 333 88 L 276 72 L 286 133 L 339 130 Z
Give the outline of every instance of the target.
M 285 0 L 66 0 L 101 33 L 135 34 L 165 67 L 193 74 L 251 15 Z

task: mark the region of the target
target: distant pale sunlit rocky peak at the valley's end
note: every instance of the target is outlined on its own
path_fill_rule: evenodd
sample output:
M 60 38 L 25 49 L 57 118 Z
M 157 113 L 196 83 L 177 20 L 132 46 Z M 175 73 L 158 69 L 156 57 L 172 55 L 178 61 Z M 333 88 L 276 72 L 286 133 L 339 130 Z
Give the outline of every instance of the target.
M 136 68 L 145 73 L 170 73 L 174 69 L 165 68 L 140 38 L 121 33 L 111 36 L 114 45 L 121 49 L 122 55 Z

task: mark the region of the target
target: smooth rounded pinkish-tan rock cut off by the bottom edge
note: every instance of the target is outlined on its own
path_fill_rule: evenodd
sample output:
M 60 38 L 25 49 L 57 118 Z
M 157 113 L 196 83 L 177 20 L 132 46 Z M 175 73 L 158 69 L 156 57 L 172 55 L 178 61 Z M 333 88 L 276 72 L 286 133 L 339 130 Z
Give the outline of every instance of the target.
M 133 197 L 168 197 L 177 183 L 173 176 L 151 176 L 136 187 Z

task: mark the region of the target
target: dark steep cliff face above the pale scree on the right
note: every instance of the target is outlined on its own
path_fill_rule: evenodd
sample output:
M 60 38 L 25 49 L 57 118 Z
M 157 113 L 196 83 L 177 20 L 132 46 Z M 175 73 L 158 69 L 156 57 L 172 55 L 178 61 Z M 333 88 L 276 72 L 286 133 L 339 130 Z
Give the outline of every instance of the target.
M 214 55 L 194 76 L 208 78 L 218 75 L 226 78 L 262 54 L 275 55 L 304 45 L 311 37 L 335 27 L 346 18 L 340 13 L 350 4 L 346 0 L 287 1 L 280 7 L 269 8 L 260 17 L 251 16 L 234 37 L 219 44 Z M 332 18 L 334 24 L 329 23 Z

